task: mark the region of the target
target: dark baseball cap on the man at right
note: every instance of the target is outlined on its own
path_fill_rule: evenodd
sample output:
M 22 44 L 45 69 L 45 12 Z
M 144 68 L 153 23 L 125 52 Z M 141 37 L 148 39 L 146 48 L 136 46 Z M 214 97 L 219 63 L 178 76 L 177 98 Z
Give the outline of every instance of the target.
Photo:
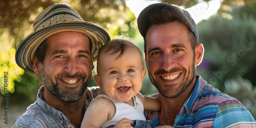
M 185 24 L 191 32 L 194 32 L 197 42 L 199 42 L 197 24 L 195 23 L 194 19 L 190 16 L 190 14 L 184 9 L 180 9 L 175 5 L 167 3 L 152 4 L 147 6 L 140 12 L 137 22 L 140 34 L 143 37 L 146 36 L 147 30 L 152 24 L 150 20 L 150 15 L 152 15 L 153 13 L 157 13 L 158 10 L 162 8 L 169 8 L 169 11 L 172 12 L 172 16 L 179 19 L 183 24 Z

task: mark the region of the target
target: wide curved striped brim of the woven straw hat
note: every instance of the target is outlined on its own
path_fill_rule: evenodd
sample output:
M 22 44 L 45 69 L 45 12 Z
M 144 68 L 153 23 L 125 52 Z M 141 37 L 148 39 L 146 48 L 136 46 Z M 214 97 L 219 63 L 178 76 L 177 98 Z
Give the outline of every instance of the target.
M 110 40 L 108 32 L 89 22 L 66 22 L 55 24 L 32 32 L 20 42 L 15 53 L 17 65 L 28 72 L 34 73 L 32 63 L 37 47 L 47 37 L 63 31 L 74 31 L 86 34 L 92 42 L 91 55 L 93 61 L 97 60 L 98 49 Z

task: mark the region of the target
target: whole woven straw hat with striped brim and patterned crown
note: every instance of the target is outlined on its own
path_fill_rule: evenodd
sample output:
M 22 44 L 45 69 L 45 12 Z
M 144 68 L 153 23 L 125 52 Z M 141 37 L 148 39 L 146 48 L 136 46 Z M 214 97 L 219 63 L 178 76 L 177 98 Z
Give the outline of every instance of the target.
M 32 63 L 37 47 L 47 37 L 63 31 L 75 31 L 86 34 L 92 42 L 92 59 L 96 61 L 98 49 L 110 40 L 110 35 L 103 28 L 85 22 L 68 4 L 53 4 L 39 13 L 35 19 L 34 31 L 25 37 L 15 53 L 17 65 L 34 73 Z

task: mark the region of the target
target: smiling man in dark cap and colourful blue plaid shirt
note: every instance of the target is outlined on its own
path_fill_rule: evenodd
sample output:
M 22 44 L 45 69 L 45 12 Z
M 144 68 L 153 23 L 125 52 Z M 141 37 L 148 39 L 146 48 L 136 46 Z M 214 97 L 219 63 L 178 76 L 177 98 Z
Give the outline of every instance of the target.
M 203 59 L 197 25 L 177 6 L 158 3 L 139 14 L 145 61 L 158 89 L 159 112 L 147 112 L 153 125 L 174 127 L 256 127 L 255 119 L 236 98 L 196 75 Z

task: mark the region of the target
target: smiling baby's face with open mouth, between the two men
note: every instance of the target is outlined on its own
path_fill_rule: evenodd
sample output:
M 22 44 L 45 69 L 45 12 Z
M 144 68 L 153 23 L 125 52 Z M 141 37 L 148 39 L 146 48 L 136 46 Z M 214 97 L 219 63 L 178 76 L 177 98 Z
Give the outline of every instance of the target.
M 126 102 L 141 90 L 146 70 L 137 49 L 128 47 L 123 55 L 116 59 L 119 53 L 106 53 L 100 57 L 99 86 L 106 95 Z

